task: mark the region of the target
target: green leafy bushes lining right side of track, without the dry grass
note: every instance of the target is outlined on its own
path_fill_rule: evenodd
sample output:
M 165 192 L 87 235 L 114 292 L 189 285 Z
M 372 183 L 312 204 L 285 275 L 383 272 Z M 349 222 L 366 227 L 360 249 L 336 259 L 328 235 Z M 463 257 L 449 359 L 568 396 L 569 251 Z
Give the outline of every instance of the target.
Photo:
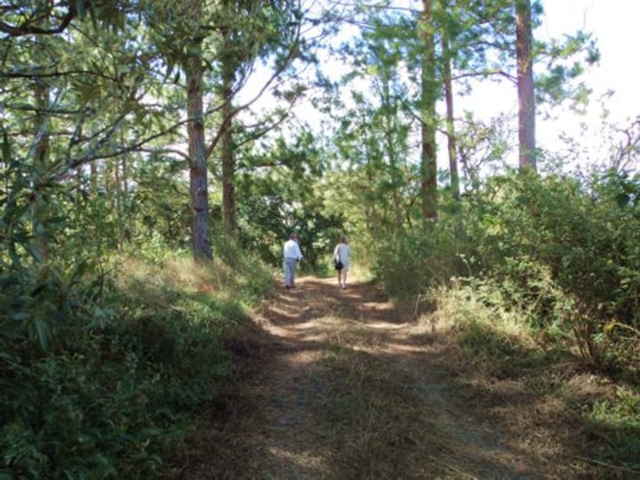
M 594 364 L 637 378 L 639 181 L 496 177 L 428 231 L 380 243 L 378 276 L 399 296 L 466 277 L 544 338 L 571 335 Z

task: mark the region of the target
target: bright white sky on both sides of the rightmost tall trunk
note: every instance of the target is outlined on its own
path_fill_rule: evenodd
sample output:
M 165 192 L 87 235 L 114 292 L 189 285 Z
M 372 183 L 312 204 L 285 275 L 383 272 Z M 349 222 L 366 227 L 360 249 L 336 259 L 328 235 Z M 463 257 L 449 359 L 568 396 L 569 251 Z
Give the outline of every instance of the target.
M 542 0 L 545 16 L 534 36 L 545 40 L 562 38 L 582 29 L 596 38 L 601 59 L 588 68 L 580 77 L 593 93 L 586 115 L 568 108 L 556 108 L 555 120 L 539 115 L 536 121 L 537 144 L 553 152 L 569 148 L 560 136 L 568 133 L 589 152 L 591 160 L 604 160 L 606 146 L 603 144 L 601 116 L 603 107 L 609 111 L 608 121 L 628 126 L 630 120 L 640 116 L 640 67 L 637 66 L 636 45 L 640 44 L 640 0 Z M 540 64 L 534 66 L 536 73 Z M 599 101 L 605 92 L 613 91 L 611 98 Z M 481 118 L 491 118 L 500 113 L 516 115 L 517 97 L 514 85 L 483 82 L 474 87 L 468 99 L 460 99 L 460 108 L 471 109 Z M 541 114 L 542 108 L 538 112 Z M 580 130 L 581 124 L 590 125 L 588 133 Z M 517 128 L 517 125 L 513 125 Z M 511 158 L 508 163 L 516 162 Z M 589 158 L 583 158 L 589 160 Z

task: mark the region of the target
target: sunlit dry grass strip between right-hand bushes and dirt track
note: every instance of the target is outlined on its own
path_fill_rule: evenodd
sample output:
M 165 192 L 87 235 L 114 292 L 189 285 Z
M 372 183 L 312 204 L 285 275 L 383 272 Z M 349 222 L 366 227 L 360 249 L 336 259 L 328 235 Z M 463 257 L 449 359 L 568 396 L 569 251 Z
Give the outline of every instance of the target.
M 588 370 L 577 351 L 540 337 L 524 320 L 531 312 L 512 308 L 500 295 L 487 299 L 477 285 L 454 284 L 431 292 L 436 316 L 452 323 L 475 371 L 490 382 L 523 381 L 531 396 L 559 401 L 554 415 L 576 424 L 580 458 L 602 477 L 640 472 L 640 388 L 613 383 Z M 584 372 L 584 373 L 583 373 Z M 553 401 L 552 400 L 552 403 Z

